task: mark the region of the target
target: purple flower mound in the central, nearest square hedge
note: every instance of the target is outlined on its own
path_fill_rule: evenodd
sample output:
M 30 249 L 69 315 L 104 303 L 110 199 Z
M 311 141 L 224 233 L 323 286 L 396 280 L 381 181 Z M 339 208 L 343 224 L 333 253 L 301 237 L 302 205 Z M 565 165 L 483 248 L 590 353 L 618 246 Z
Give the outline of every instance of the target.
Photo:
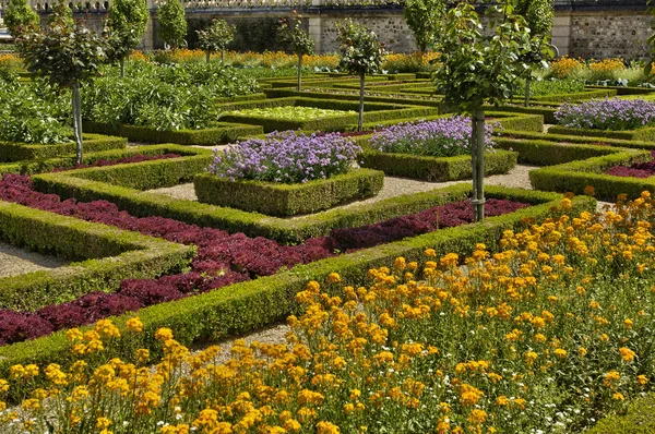
M 222 178 L 305 183 L 345 173 L 361 148 L 338 133 L 273 132 L 215 150 L 207 170 Z

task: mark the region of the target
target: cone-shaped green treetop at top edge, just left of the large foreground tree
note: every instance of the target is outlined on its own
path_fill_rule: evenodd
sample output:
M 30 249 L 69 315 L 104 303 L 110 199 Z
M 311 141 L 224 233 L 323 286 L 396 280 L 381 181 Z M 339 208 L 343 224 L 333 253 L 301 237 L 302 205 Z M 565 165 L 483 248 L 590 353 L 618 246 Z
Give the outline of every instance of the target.
M 445 15 L 446 0 L 407 0 L 403 14 L 420 52 L 432 46 Z

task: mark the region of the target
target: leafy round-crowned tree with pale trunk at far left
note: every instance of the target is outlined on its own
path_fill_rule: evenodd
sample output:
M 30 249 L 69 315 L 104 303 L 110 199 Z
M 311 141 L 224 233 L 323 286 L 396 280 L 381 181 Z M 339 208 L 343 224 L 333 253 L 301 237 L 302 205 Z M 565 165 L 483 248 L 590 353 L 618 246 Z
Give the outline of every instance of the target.
M 97 74 L 100 62 L 106 59 L 105 43 L 88 28 L 71 24 L 64 12 L 55 11 L 43 31 L 22 34 L 16 44 L 31 73 L 45 75 L 51 84 L 72 91 L 73 133 L 78 164 L 81 164 L 83 148 L 80 83 Z

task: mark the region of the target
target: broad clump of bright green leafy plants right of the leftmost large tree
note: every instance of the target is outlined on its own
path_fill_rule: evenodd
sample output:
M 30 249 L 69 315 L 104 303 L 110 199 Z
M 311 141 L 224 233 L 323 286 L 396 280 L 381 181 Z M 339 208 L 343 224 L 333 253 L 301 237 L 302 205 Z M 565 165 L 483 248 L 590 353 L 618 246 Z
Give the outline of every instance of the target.
M 254 80 L 219 63 L 158 65 L 129 62 L 128 77 L 116 70 L 85 88 L 84 119 L 114 125 L 142 125 L 157 131 L 199 130 L 218 116 L 215 99 L 253 93 Z

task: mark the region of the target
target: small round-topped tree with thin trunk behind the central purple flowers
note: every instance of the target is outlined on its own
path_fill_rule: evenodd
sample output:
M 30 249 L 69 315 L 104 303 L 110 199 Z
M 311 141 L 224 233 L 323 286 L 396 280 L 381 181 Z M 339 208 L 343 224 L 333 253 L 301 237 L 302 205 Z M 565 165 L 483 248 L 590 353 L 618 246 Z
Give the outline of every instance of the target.
M 366 74 L 380 71 L 386 55 L 384 45 L 376 34 L 350 19 L 337 26 L 341 51 L 340 67 L 350 74 L 359 75 L 359 121 L 357 130 L 364 126 L 364 85 Z

